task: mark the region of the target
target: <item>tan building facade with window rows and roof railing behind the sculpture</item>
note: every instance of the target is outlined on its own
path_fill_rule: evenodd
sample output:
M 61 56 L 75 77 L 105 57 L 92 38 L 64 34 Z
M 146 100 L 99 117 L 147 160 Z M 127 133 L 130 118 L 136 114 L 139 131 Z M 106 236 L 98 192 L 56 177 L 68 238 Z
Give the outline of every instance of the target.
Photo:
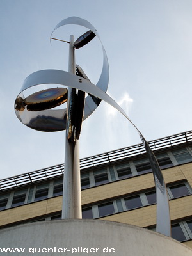
M 149 142 L 163 170 L 172 237 L 192 248 L 192 131 Z M 81 159 L 83 218 L 156 229 L 154 178 L 142 144 Z M 63 164 L 0 180 L 0 228 L 61 218 Z

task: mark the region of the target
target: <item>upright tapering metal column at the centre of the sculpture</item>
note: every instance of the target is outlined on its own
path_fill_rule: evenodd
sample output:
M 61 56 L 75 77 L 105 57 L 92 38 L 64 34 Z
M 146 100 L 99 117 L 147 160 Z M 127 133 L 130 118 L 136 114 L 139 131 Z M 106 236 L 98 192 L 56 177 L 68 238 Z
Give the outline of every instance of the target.
M 76 74 L 74 36 L 70 35 L 68 72 Z M 81 177 L 79 164 L 79 140 L 70 138 L 72 133 L 72 109 L 76 89 L 68 88 L 67 129 L 65 138 L 65 170 L 63 178 L 62 219 L 81 219 Z

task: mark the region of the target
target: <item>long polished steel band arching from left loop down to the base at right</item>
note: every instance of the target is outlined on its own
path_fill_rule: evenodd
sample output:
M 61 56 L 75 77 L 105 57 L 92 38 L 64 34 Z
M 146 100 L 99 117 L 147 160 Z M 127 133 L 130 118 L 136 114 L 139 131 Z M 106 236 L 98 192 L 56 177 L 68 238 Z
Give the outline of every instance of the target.
M 131 120 L 126 115 L 124 110 L 115 102 L 115 100 L 109 97 L 107 93 L 103 92 L 100 88 L 90 83 L 86 79 L 83 79 L 83 78 L 79 79 L 79 77 L 74 74 L 70 74 L 62 70 L 37 71 L 26 78 L 26 80 L 24 81 L 24 86 L 22 87 L 22 91 L 26 90 L 26 88 L 30 88 L 31 86 L 36 86 L 38 84 L 60 84 L 63 86 L 76 88 L 84 92 L 90 93 L 91 95 L 94 95 L 95 97 L 98 97 L 99 99 L 104 100 L 105 102 L 107 102 L 108 104 L 116 108 L 118 111 L 120 111 L 120 113 L 122 113 L 122 115 L 124 115 L 129 120 L 129 122 L 131 122 Z M 31 116 L 28 116 L 28 120 L 26 120 L 25 114 L 22 116 L 22 112 L 19 113 L 19 111 L 17 110 L 15 111 L 16 111 L 17 117 L 21 120 L 21 122 L 23 123 L 25 122 L 25 124 L 28 125 L 29 127 L 31 126 L 33 127 L 34 125 L 32 124 L 33 118 L 31 118 L 33 116 L 33 113 L 29 112 Z M 46 120 L 45 116 L 41 116 L 40 118 L 41 118 L 41 121 L 42 119 L 44 119 L 44 121 Z M 52 116 L 52 118 L 55 118 L 55 116 Z M 132 122 L 131 124 L 134 125 Z M 156 157 L 154 156 L 152 150 L 148 146 L 147 141 L 145 140 L 141 132 L 138 130 L 138 128 L 135 125 L 134 127 L 140 134 L 140 138 L 143 141 L 143 144 L 145 145 L 145 149 L 147 151 L 150 164 L 152 166 L 152 172 L 154 174 L 156 196 L 157 196 L 157 228 L 156 230 L 161 234 L 170 236 L 170 209 L 169 209 L 168 195 L 166 192 L 166 185 L 164 183 L 163 174 L 161 172 L 161 169 L 159 167 Z

